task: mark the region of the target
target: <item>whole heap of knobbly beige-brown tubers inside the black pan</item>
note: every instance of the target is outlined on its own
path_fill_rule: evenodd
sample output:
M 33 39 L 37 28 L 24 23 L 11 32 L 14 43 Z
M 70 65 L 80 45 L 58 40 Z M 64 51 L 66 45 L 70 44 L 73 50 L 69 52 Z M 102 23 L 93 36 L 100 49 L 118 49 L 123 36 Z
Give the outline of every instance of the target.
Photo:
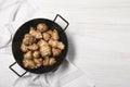
M 60 41 L 57 30 L 52 29 L 49 29 L 44 23 L 39 23 L 37 28 L 30 27 L 29 33 L 25 34 L 21 45 L 25 67 L 38 69 L 39 66 L 52 66 L 56 63 L 56 58 L 65 49 L 65 45 Z

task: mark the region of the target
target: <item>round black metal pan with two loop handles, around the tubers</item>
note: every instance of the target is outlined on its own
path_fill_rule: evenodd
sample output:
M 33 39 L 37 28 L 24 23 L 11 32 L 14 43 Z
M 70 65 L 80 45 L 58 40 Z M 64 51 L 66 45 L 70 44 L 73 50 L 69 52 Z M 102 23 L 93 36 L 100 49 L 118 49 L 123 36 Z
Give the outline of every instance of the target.
M 65 23 L 67 24 L 64 29 L 57 23 L 55 23 L 55 20 L 57 18 L 57 16 L 61 17 L 63 21 L 65 21 Z M 36 27 L 37 24 L 39 24 L 39 23 L 46 23 L 49 26 L 50 29 L 55 28 L 60 34 L 60 40 L 65 45 L 65 49 L 57 57 L 56 63 L 54 65 L 52 65 L 52 66 L 41 66 L 41 67 L 38 67 L 38 69 L 26 69 L 23 65 L 23 58 L 24 58 L 23 55 L 24 55 L 24 53 L 21 50 L 22 40 L 24 38 L 24 35 L 29 32 L 30 26 Z M 16 62 L 13 63 L 12 65 L 10 65 L 10 69 L 15 74 L 17 74 L 20 77 L 22 77 L 27 72 L 35 73 L 35 74 L 43 74 L 43 73 L 48 73 L 48 72 L 52 72 L 52 71 L 56 70 L 60 66 L 60 64 L 63 62 L 63 60 L 65 59 L 65 57 L 67 54 L 68 42 L 67 42 L 67 37 L 66 37 L 66 34 L 65 34 L 65 29 L 67 28 L 68 25 L 69 25 L 69 23 L 66 20 L 64 20 L 60 14 L 57 14 L 55 16 L 54 21 L 47 20 L 47 18 L 35 18 L 35 20 L 28 21 L 25 24 L 23 24 L 17 29 L 17 32 L 15 33 L 13 41 L 12 41 L 12 52 L 13 52 L 13 57 L 14 57 Z M 20 75 L 12 67 L 16 63 L 26 71 L 22 75 Z

